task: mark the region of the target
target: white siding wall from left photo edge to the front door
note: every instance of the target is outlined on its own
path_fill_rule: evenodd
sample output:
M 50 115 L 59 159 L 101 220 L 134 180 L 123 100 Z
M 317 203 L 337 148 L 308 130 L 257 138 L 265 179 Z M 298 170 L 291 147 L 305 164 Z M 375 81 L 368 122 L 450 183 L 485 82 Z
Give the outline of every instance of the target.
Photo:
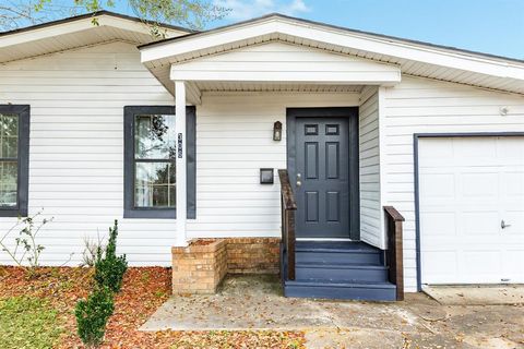
M 286 107 L 358 106 L 359 94 L 204 94 L 196 108 L 195 220 L 188 238 L 279 236 L 279 186 L 259 168 L 285 168 L 272 141 Z M 40 231 L 43 263 L 81 261 L 86 237 L 120 221 L 119 251 L 132 265 L 170 265 L 174 219 L 123 219 L 123 107 L 171 105 L 133 45 L 114 43 L 0 65 L 0 104 L 31 105 L 29 214 L 55 220 Z M 276 174 L 276 171 L 275 171 Z M 0 217 L 0 231 L 15 218 Z M 0 264 L 10 263 L 0 252 Z

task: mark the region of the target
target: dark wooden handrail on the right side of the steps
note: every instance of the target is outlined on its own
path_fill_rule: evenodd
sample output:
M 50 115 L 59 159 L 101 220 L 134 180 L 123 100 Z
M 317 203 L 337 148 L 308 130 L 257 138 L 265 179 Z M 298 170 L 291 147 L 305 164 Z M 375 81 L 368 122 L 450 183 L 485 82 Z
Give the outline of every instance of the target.
M 396 300 L 404 300 L 404 260 L 402 222 L 404 217 L 393 206 L 384 206 L 388 234 L 385 263 L 389 266 L 388 278 L 396 285 Z

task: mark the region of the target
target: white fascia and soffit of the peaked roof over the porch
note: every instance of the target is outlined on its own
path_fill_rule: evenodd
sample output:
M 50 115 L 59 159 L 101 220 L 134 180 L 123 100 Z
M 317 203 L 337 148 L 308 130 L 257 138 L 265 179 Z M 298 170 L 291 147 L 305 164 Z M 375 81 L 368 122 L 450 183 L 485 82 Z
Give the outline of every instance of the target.
M 140 46 L 160 81 L 166 67 L 267 41 L 284 41 L 396 64 L 403 74 L 524 94 L 524 61 L 270 14 Z

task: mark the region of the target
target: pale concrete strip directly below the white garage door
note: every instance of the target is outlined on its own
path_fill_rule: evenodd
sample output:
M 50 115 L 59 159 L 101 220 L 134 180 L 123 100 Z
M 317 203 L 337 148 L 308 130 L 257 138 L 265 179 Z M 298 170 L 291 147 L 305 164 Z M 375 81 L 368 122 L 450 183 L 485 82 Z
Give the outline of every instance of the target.
M 524 304 L 524 285 L 425 286 L 422 291 L 442 305 Z

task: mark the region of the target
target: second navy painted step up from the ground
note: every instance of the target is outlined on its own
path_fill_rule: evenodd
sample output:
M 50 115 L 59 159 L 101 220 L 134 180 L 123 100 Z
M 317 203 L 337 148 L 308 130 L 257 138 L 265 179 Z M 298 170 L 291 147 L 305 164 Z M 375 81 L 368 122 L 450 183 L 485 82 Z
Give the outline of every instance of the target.
M 297 263 L 296 279 L 323 279 L 330 281 L 388 281 L 388 267 L 373 264 Z

